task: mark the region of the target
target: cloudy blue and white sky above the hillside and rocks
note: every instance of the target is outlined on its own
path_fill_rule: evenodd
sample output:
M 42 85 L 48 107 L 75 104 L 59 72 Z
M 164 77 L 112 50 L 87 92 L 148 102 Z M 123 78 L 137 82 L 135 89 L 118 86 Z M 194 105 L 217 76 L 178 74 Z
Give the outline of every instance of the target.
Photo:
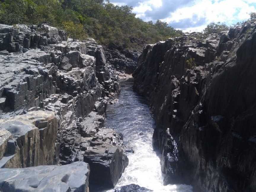
M 144 21 L 161 20 L 184 32 L 201 32 L 211 22 L 227 25 L 249 19 L 256 12 L 256 0 L 110 0 L 133 7 Z

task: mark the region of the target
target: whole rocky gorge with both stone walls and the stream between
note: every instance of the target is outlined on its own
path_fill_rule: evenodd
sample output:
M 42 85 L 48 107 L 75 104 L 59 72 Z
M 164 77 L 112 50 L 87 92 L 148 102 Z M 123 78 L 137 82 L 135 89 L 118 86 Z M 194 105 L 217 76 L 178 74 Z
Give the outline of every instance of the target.
M 0 191 L 254 192 L 255 29 L 140 54 L 0 24 Z

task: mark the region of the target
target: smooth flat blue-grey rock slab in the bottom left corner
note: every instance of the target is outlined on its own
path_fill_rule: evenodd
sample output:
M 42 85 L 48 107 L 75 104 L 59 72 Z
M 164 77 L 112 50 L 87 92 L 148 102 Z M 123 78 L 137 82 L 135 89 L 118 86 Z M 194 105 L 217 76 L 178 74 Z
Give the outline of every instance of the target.
M 89 166 L 84 162 L 0 169 L 1 192 L 89 192 L 88 182 Z

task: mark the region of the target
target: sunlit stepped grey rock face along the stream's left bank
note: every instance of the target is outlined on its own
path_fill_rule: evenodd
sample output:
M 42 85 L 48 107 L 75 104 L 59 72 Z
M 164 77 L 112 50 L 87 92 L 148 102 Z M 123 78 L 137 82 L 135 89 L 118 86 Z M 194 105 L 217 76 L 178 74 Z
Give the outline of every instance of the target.
M 103 127 L 108 100 L 120 92 L 118 76 L 109 69 L 103 47 L 94 39 L 67 39 L 64 31 L 46 24 L 0 24 L 0 68 L 0 166 L 68 167 L 73 162 L 85 161 L 89 166 L 99 165 L 90 168 L 93 178 L 94 173 L 103 171 L 100 165 L 104 164 L 109 167 L 108 185 L 103 177 L 97 178 L 98 182 L 113 187 L 128 159 L 121 136 Z M 91 151 L 91 160 L 86 159 L 87 151 Z M 80 165 L 87 166 L 84 163 L 75 167 Z M 52 168 L 43 167 L 38 168 L 40 174 L 44 168 L 52 172 Z M 88 179 L 84 180 L 85 191 Z M 80 190 L 69 184 L 60 185 L 66 191 Z

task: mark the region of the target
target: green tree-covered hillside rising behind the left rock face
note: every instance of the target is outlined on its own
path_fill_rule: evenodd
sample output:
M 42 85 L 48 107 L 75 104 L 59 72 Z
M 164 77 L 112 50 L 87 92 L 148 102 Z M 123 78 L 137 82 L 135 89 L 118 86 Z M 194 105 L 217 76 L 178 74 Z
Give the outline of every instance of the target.
M 0 23 L 49 23 L 59 28 L 74 24 L 115 48 L 140 47 L 182 34 L 160 20 L 144 22 L 135 16 L 132 7 L 104 0 L 0 0 Z

